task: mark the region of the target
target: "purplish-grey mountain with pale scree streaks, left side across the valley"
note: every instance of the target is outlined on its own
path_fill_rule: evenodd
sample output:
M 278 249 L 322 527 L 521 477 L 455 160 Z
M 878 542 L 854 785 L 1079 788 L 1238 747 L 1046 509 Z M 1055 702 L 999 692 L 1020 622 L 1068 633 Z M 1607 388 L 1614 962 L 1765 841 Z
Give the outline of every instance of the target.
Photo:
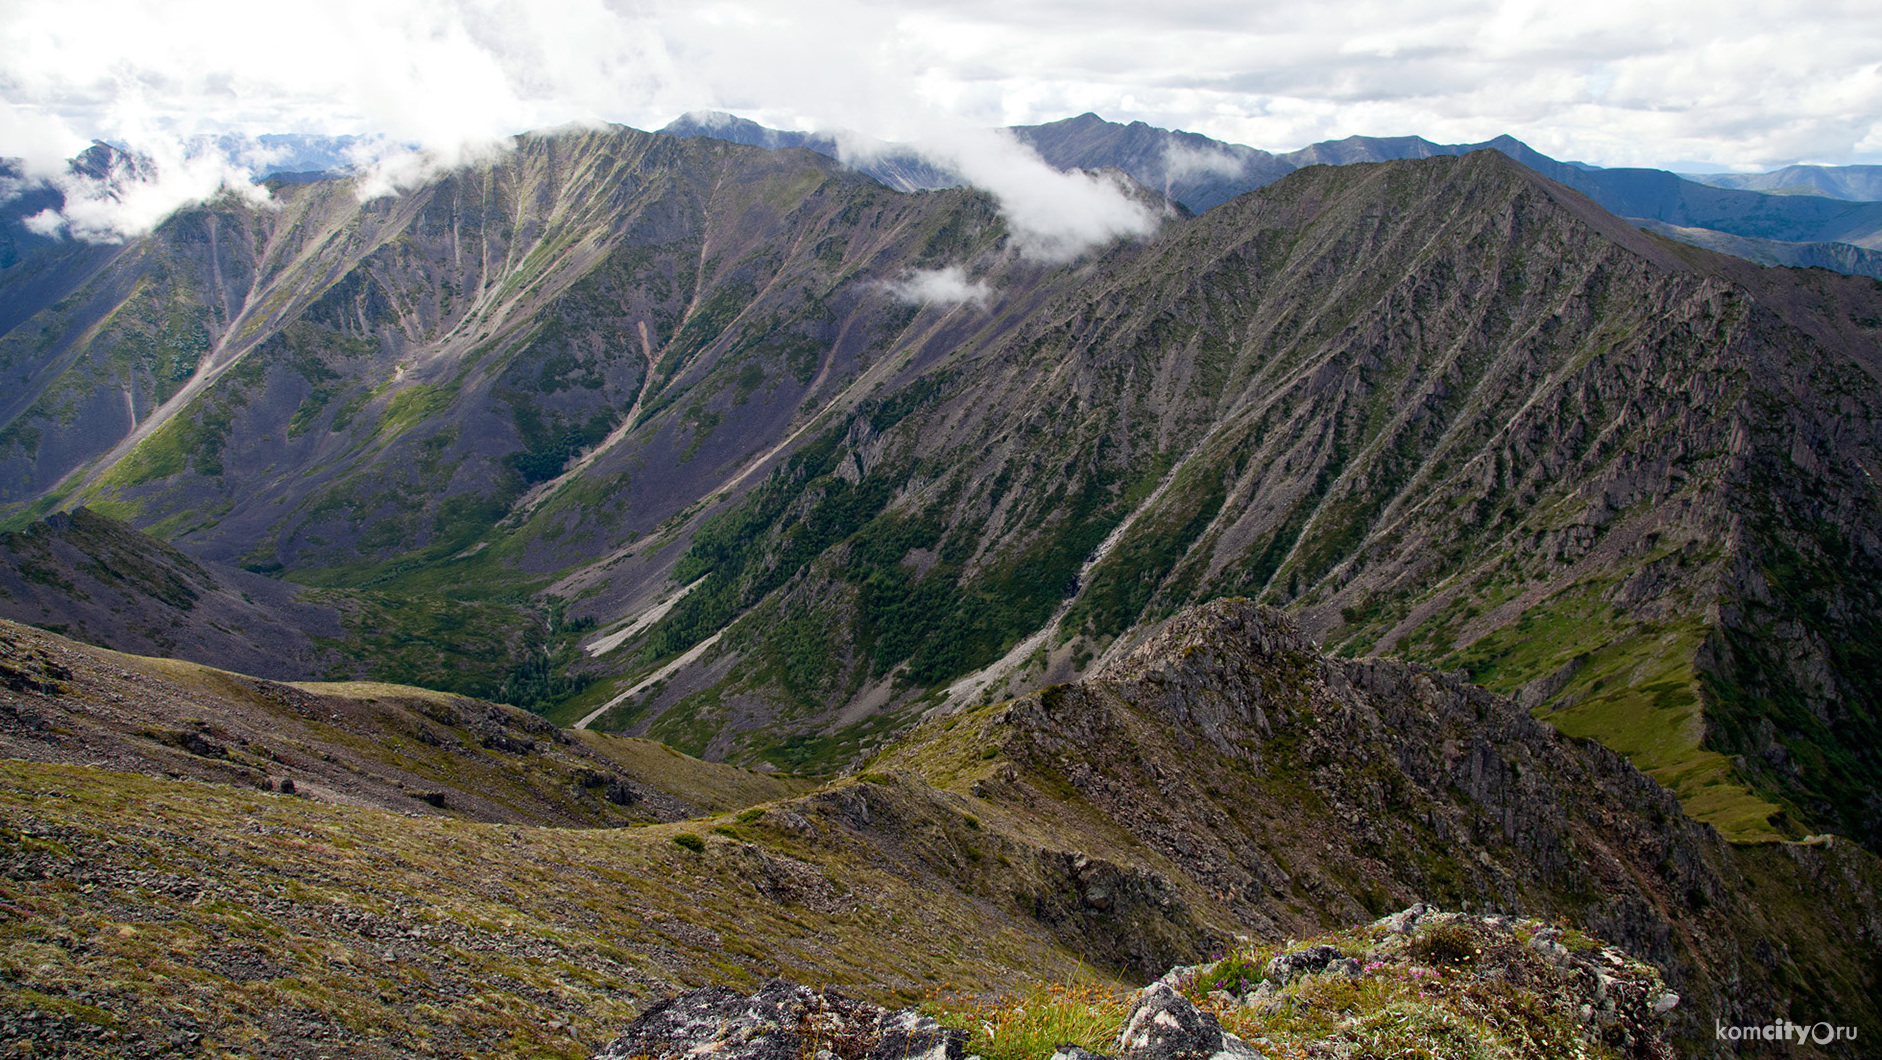
M 608 471 L 715 467 L 751 433 L 775 437 L 894 324 L 894 299 L 853 320 L 822 301 L 830 286 L 864 264 L 894 277 L 894 258 L 873 258 L 958 237 L 941 230 L 971 200 L 877 203 L 858 181 L 807 153 L 617 130 L 525 137 L 395 200 L 314 183 L 282 188 L 280 209 L 179 215 L 8 335 L 24 439 L 11 495 L 104 458 L 53 497 L 162 510 L 137 522 L 211 557 L 307 567 L 454 554 L 572 456 L 661 412 L 659 442 Z M 839 239 L 815 235 L 839 218 Z M 704 380 L 732 345 L 738 367 Z M 721 388 L 713 405 L 740 422 L 711 444 Z M 642 514 L 664 490 L 636 478 L 615 508 L 646 531 L 672 508 Z

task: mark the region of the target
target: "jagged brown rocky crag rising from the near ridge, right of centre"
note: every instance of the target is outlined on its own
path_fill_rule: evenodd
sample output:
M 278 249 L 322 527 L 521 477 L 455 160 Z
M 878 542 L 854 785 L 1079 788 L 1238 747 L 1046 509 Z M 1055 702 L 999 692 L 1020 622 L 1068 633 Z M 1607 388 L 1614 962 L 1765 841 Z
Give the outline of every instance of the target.
M 1523 911 L 1656 964 L 1684 998 L 1688 1047 L 1713 1019 L 1878 1015 L 1865 953 L 1882 938 L 1882 864 L 1867 851 L 1728 843 L 1511 699 L 1425 667 L 1329 659 L 1246 601 L 1184 612 L 1092 680 L 964 715 L 937 740 L 1011 763 L 956 785 L 1020 813 L 1052 806 L 1063 830 L 1122 828 L 1201 889 L 1199 907 L 1261 938 L 1413 900 Z M 920 746 L 900 755 L 926 761 Z

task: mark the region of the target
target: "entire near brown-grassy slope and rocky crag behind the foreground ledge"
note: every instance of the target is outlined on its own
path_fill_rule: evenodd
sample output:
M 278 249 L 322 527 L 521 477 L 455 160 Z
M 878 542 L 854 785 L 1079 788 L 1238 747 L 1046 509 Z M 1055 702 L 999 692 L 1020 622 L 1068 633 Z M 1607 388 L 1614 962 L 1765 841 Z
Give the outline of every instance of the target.
M 132 1043 L 186 1030 L 237 1052 L 267 1039 L 582 1054 L 681 983 L 785 973 L 913 1000 L 1140 981 L 1236 932 L 1272 943 L 1413 900 L 1602 934 L 1681 994 L 1669 1030 L 1694 1054 L 1715 1019 L 1835 1013 L 1863 1039 L 1882 1026 L 1873 855 L 1841 840 L 1724 843 L 1620 757 L 1519 704 L 1428 668 L 1327 659 L 1246 601 L 1174 618 L 1092 682 L 932 719 L 869 770 L 796 793 L 666 751 L 651 770 L 610 761 L 614 740 L 412 689 L 288 689 L 6 634 L 9 670 L 34 685 L 0 721 L 34 759 L 124 725 L 120 670 L 145 695 L 167 670 L 188 695 L 220 682 L 205 721 L 228 729 L 231 759 L 314 738 L 333 764 L 271 768 L 361 770 L 348 791 L 316 778 L 316 800 L 228 774 L 15 763 L 0 783 L 0 964 L 15 987 L 0 1019 L 15 1026 L 32 1005 L 40 1022 Z M 290 731 L 267 736 L 271 719 Z M 538 746 L 478 746 L 491 721 Z M 237 742 L 243 725 L 254 738 Z M 414 744 L 412 725 L 442 749 Z M 205 759 L 190 776 L 228 768 L 183 753 Z M 452 791 L 446 813 L 512 823 L 376 808 L 391 791 L 373 795 L 369 774 L 425 776 L 437 753 L 487 759 L 465 789 L 518 796 L 465 813 Z M 566 778 L 583 761 L 647 770 L 634 779 L 651 791 L 702 785 L 683 798 L 711 815 L 514 823 L 625 813 Z M 356 793 L 367 808 L 344 806 Z

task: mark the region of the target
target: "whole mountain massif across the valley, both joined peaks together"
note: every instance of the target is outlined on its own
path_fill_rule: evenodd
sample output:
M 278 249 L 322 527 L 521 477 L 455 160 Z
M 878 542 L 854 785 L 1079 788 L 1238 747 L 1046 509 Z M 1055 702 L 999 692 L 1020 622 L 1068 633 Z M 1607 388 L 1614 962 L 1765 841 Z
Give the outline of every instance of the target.
M 566 629 L 561 597 L 600 629 L 516 665 L 557 672 L 533 702 L 779 766 L 1250 595 L 1521 695 L 1730 836 L 1878 842 L 1867 279 L 1649 237 L 1494 151 L 1065 265 L 984 196 L 632 130 L 280 196 L 0 339 L 15 522 L 83 501 L 380 593 L 367 672 L 440 608 Z M 945 267 L 977 286 L 911 294 Z

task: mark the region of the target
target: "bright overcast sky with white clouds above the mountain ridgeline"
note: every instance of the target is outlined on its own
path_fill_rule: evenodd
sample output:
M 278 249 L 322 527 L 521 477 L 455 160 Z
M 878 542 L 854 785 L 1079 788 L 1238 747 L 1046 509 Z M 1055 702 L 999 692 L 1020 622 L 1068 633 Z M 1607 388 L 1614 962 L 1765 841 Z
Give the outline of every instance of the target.
M 1762 169 L 1882 162 L 1878 62 L 1878 0 L 0 0 L 0 154 L 312 132 L 454 156 L 691 109 L 933 141 L 1097 111 L 1268 151 L 1507 132 Z

